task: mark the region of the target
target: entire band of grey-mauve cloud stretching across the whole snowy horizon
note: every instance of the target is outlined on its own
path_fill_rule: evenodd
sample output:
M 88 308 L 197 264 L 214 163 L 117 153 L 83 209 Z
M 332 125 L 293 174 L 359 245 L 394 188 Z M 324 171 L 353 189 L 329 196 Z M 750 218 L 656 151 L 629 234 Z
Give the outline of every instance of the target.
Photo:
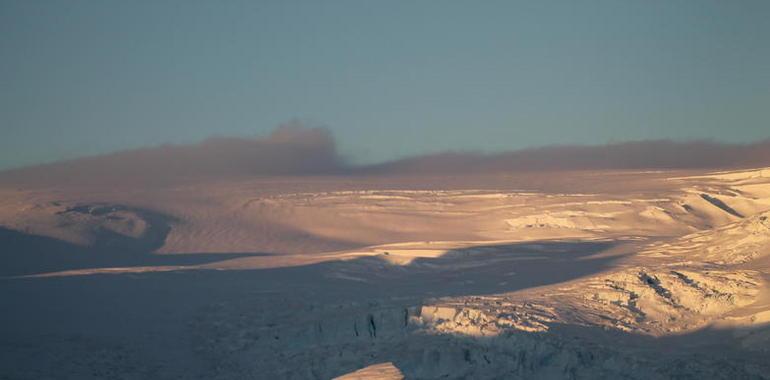
M 751 144 L 642 141 L 552 146 L 512 152 L 439 153 L 353 166 L 325 128 L 283 125 L 264 138 L 211 138 L 63 161 L 0 173 L 30 185 L 165 184 L 318 175 L 442 175 L 591 169 L 696 169 L 770 166 L 770 140 Z

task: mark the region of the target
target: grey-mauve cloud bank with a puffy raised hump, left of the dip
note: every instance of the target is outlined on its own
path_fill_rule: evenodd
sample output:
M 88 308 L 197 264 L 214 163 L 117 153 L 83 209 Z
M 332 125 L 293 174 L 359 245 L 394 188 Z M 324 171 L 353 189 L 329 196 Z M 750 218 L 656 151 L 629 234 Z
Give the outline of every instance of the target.
M 252 176 L 340 174 L 342 161 L 325 128 L 282 125 L 264 138 L 207 139 L 38 165 L 0 173 L 21 184 L 165 184 Z

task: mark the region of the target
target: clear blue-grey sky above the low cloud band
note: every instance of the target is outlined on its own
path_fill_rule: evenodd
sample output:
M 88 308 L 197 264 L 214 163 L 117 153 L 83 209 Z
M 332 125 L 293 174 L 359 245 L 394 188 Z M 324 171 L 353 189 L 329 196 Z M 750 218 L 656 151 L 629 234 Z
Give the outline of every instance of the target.
M 0 169 L 325 126 L 357 163 L 770 138 L 770 1 L 0 0 Z

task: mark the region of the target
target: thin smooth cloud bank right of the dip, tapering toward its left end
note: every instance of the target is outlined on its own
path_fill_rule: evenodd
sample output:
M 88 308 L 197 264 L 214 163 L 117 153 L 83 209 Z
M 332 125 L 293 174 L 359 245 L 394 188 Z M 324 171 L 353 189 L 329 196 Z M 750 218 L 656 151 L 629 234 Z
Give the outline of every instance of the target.
M 367 173 L 463 174 L 590 169 L 698 169 L 770 165 L 770 140 L 752 144 L 640 141 L 551 146 L 513 152 L 439 153 L 359 170 Z

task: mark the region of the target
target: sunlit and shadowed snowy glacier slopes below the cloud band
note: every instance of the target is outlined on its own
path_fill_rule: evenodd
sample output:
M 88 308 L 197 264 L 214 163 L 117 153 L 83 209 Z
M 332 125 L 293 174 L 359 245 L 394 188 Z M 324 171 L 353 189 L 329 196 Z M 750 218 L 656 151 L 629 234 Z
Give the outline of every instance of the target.
M 768 169 L 6 185 L 0 261 L 0 379 L 770 378 Z

